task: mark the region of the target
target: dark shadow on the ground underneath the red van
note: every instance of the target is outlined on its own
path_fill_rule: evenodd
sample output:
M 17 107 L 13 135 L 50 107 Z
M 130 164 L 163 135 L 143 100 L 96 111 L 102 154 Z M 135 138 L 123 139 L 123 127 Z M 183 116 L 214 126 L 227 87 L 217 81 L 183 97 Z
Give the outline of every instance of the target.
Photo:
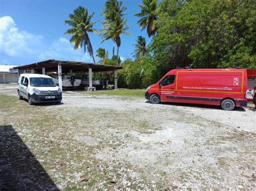
M 151 103 L 150 101 L 146 101 L 146 103 Z M 201 109 L 216 109 L 223 110 L 220 105 L 205 105 L 205 104 L 195 104 L 195 103 L 177 103 L 177 102 L 160 102 L 159 104 L 163 105 L 176 105 L 183 107 L 191 107 L 191 108 L 201 108 Z M 242 107 L 235 107 L 232 111 L 246 111 Z

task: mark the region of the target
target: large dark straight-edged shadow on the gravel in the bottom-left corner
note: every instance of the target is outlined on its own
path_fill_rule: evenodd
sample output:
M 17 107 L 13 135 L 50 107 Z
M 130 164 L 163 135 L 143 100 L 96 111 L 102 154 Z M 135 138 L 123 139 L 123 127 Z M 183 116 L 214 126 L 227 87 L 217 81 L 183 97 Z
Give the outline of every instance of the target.
M 11 125 L 0 125 L 0 190 L 58 190 Z

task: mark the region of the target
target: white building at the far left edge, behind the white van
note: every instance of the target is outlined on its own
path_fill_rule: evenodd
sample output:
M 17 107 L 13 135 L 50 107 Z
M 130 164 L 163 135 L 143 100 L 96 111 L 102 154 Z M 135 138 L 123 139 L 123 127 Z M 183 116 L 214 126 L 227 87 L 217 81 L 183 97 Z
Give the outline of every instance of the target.
M 13 65 L 0 65 L 0 83 L 17 83 L 18 70 Z

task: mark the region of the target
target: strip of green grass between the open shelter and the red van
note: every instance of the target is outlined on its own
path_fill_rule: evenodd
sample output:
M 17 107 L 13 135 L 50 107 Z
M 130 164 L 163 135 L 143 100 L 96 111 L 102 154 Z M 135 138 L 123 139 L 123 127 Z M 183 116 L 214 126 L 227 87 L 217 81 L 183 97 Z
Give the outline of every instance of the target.
M 116 90 L 103 90 L 103 91 L 84 91 L 85 94 L 93 95 L 119 95 L 119 96 L 132 96 L 132 97 L 144 97 L 144 89 L 116 89 Z

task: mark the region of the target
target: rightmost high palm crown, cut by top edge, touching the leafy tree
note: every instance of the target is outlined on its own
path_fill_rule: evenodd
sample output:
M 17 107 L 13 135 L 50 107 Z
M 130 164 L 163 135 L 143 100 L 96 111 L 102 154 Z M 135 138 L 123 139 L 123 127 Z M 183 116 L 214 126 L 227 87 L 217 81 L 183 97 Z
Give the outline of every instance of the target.
M 139 4 L 141 11 L 134 16 L 140 17 L 138 24 L 140 29 L 144 30 L 147 27 L 147 35 L 149 37 L 154 36 L 157 32 L 157 26 L 154 23 L 157 20 L 157 16 L 154 11 L 157 9 L 157 0 L 142 0 L 143 5 Z

